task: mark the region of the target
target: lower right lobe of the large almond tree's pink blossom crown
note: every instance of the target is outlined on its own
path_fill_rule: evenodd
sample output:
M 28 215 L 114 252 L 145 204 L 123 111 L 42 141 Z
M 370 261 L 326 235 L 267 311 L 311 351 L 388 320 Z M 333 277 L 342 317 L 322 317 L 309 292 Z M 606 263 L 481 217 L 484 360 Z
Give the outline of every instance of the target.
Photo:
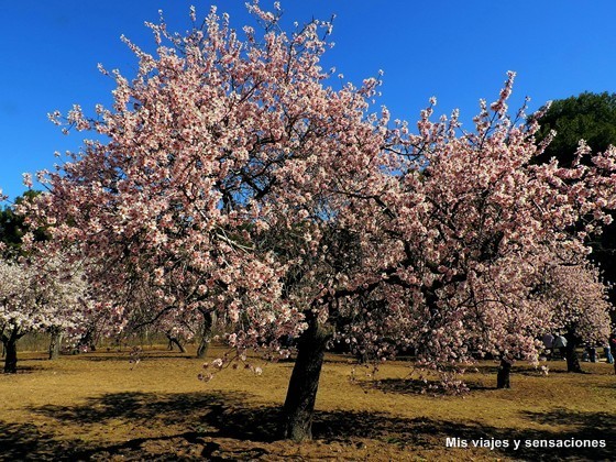
M 354 202 L 340 220 L 363 237 L 362 272 L 340 294 L 374 290 L 395 317 L 389 326 L 432 367 L 472 362 L 472 353 L 501 356 L 504 371 L 514 358 L 536 361 L 536 339 L 558 311 L 536 299 L 543 268 L 582 258 L 586 237 L 610 220 L 603 209 L 616 205 L 613 148 L 593 167 L 531 165 L 538 127 L 509 119 L 513 79 L 490 108 L 482 102 L 472 132 L 457 113 L 430 121 L 431 108 L 418 134 L 399 122 L 384 154 L 386 187 L 340 191 Z M 579 154 L 590 155 L 583 145 Z M 587 289 L 603 297 L 601 285 Z

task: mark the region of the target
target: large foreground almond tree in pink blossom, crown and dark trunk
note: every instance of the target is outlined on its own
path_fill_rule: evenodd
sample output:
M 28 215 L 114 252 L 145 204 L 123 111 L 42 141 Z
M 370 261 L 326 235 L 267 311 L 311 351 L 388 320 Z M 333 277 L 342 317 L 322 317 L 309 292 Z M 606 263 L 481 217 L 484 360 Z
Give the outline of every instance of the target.
M 127 41 L 140 68 L 132 81 L 111 73 L 113 108 L 67 117 L 108 141 L 41 174 L 48 194 L 31 219 L 92 263 L 124 322 L 133 289 L 148 287 L 152 319 L 218 312 L 240 351 L 287 354 L 280 339 L 297 339 L 286 438 L 311 436 L 334 337 L 375 356 L 410 344 L 435 367 L 472 351 L 536 355 L 552 322 L 529 301 L 540 268 L 560 246 L 583 253 L 582 231 L 614 208 L 614 153 L 593 168 L 530 166 L 537 127 L 507 117 L 513 76 L 473 132 L 455 114 L 431 122 L 431 109 L 418 134 L 389 128 L 386 109 L 369 114 L 377 80 L 326 87 L 329 23 L 289 35 L 279 11 L 249 8 L 263 34 L 240 40 L 212 10 L 186 36 L 151 24 L 156 56 Z

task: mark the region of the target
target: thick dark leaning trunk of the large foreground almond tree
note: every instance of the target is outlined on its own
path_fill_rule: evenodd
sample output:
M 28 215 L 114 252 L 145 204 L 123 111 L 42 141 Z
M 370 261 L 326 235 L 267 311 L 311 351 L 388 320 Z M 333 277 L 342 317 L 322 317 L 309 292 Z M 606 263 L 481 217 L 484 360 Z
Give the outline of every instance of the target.
M 308 329 L 299 337 L 297 360 L 283 408 L 282 437 L 294 441 L 312 438 L 312 416 L 329 333 L 309 315 Z

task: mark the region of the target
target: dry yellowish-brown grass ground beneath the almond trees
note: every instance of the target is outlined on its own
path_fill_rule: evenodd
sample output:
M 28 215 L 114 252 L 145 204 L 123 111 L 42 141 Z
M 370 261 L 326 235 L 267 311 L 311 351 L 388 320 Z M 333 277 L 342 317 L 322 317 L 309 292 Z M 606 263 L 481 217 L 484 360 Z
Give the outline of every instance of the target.
M 495 389 L 496 364 L 484 362 L 468 395 L 435 396 L 404 362 L 376 376 L 355 370 L 351 381 L 346 359 L 330 355 L 315 440 L 302 444 L 275 439 L 290 362 L 209 383 L 196 380 L 201 363 L 163 348 L 134 367 L 128 351 L 54 362 L 21 353 L 20 373 L 0 374 L 0 460 L 616 460 L 616 377 L 605 363 L 583 363 L 591 374 L 579 375 L 554 361 L 548 376 L 520 364 L 513 388 Z M 448 448 L 447 438 L 469 448 Z M 510 447 L 473 448 L 479 439 Z M 526 447 L 540 440 L 606 447 Z

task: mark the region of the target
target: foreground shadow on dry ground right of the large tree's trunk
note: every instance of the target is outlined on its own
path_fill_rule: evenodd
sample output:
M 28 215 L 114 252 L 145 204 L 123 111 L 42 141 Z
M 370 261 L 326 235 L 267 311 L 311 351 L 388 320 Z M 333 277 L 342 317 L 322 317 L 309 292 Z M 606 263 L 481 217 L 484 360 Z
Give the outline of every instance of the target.
M 314 432 L 328 442 L 351 443 L 367 438 L 402 448 L 430 450 L 447 447 L 448 438 L 459 438 L 474 448 L 492 441 L 507 441 L 507 448 L 488 450 L 495 460 L 512 457 L 516 460 L 616 460 L 616 416 L 607 413 L 575 413 L 557 409 L 548 413 L 524 413 L 529 420 L 554 426 L 569 424 L 571 431 L 546 429 L 496 428 L 480 422 L 455 422 L 429 418 L 394 418 L 381 413 L 317 413 Z M 515 450 L 514 440 L 519 441 Z M 572 448 L 559 446 L 572 446 Z M 581 444 L 582 447 L 575 447 Z M 586 446 L 586 447 L 583 447 Z

